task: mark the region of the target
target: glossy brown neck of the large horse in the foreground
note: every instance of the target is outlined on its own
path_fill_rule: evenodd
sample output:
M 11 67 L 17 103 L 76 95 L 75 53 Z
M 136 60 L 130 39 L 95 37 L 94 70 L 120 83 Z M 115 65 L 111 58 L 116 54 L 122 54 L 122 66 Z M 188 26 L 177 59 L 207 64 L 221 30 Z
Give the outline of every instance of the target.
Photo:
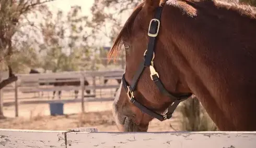
M 255 19 L 213 6 L 197 9 L 194 18 L 178 8 L 166 11 L 162 28 L 168 30 L 159 37 L 172 43 L 170 59 L 218 128 L 256 130 Z

